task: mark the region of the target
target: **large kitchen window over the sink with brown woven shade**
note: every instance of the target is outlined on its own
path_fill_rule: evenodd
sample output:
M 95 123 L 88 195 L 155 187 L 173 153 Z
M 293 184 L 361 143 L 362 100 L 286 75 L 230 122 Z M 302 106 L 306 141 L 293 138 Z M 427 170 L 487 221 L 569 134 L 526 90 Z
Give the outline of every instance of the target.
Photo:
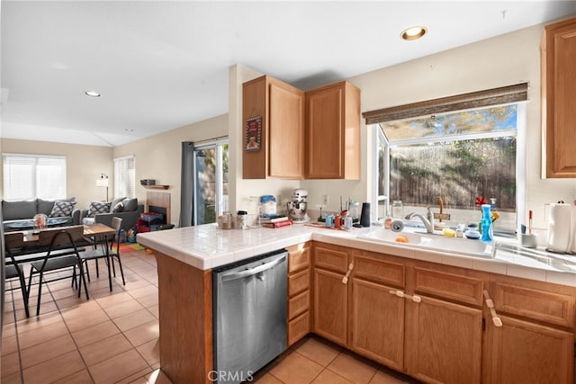
M 451 214 L 445 221 L 469 224 L 481 217 L 476 198 L 493 198 L 500 214 L 495 228 L 513 231 L 524 216 L 517 201 L 525 183 L 517 154 L 524 147 L 525 104 L 516 102 L 526 99 L 527 85 L 512 85 L 380 110 L 373 137 L 377 217 L 390 214 L 392 201 L 402 201 L 404 215 L 428 206 L 437 213 L 441 197 Z

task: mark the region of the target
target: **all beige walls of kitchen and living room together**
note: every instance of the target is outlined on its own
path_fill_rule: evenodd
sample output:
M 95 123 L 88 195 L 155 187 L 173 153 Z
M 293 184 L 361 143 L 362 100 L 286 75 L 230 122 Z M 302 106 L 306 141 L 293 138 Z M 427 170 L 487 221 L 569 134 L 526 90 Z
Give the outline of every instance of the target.
M 355 76 L 349 81 L 362 91 L 362 111 L 373 111 L 404 103 L 416 103 L 453 94 L 513 85 L 530 84 L 527 103 L 527 146 L 525 201 L 518 209 L 535 211 L 535 227 L 545 228 L 545 204 L 573 201 L 576 183 L 568 180 L 540 178 L 540 52 L 544 26 L 537 25 L 489 40 L 482 40 L 456 49 L 419 58 L 397 66 Z M 112 158 L 136 156 L 136 179 L 156 179 L 168 184 L 172 201 L 172 222 L 178 222 L 180 210 L 180 161 L 182 141 L 200 141 L 229 135 L 230 210 L 248 210 L 250 196 L 281 195 L 287 201 L 294 188 L 309 190 L 310 208 L 329 194 L 329 210 L 337 210 L 339 196 L 344 199 L 370 201 L 372 180 L 369 177 L 372 140 L 364 126 L 362 134 L 362 180 L 360 181 L 283 181 L 242 179 L 242 83 L 259 76 L 240 65 L 229 69 L 229 115 L 173 129 L 120 147 L 89 147 L 40 143 L 24 140 L 2 140 L 3 152 L 42 153 L 68 157 L 68 195 L 76 195 L 80 204 L 103 199 L 103 191 L 95 186 L 100 173 L 112 175 Z M 86 154 L 90 154 L 86 156 Z M 87 186 L 87 187 L 86 187 Z M 111 184 L 112 187 L 112 184 Z M 144 201 L 146 189 L 137 186 L 137 197 Z M 112 194 L 112 189 L 111 189 Z

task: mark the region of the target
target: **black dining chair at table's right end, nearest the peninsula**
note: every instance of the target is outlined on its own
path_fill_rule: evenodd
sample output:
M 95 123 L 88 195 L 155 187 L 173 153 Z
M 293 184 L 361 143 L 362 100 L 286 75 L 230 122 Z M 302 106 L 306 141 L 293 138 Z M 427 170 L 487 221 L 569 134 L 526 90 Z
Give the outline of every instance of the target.
M 118 262 L 120 267 L 120 272 L 122 276 L 122 284 L 126 285 L 124 280 L 124 271 L 122 270 L 122 263 L 120 258 L 120 232 L 121 232 L 122 219 L 113 217 L 112 218 L 112 228 L 114 229 L 113 237 L 100 237 L 93 238 L 93 249 L 87 250 L 80 253 L 80 259 L 84 264 L 84 270 L 86 272 L 86 277 L 90 281 L 90 271 L 88 269 L 88 262 L 90 260 L 95 261 L 96 266 L 96 277 L 100 277 L 100 270 L 98 267 L 98 261 L 103 259 L 108 267 L 108 280 L 110 282 L 110 290 L 112 291 L 112 274 L 116 277 L 116 268 L 114 266 L 114 261 Z M 112 274 L 111 274 L 112 267 Z

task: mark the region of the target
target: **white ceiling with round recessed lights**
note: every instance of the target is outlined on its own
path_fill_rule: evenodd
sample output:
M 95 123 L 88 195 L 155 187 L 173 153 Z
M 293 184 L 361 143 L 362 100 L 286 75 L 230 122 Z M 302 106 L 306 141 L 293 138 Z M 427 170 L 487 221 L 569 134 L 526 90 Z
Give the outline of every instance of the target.
M 2 0 L 0 11 L 0 135 L 118 146 L 228 112 L 235 64 L 307 90 L 576 14 L 576 1 Z M 428 34 L 401 40 L 411 25 Z

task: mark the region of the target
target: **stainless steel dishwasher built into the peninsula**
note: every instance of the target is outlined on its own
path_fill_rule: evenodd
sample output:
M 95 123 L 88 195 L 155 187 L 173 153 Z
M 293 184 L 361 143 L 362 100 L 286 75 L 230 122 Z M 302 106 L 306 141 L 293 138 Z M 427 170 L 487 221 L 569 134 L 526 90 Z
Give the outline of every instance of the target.
M 285 250 L 212 271 L 214 371 L 211 380 L 239 383 L 287 347 Z

